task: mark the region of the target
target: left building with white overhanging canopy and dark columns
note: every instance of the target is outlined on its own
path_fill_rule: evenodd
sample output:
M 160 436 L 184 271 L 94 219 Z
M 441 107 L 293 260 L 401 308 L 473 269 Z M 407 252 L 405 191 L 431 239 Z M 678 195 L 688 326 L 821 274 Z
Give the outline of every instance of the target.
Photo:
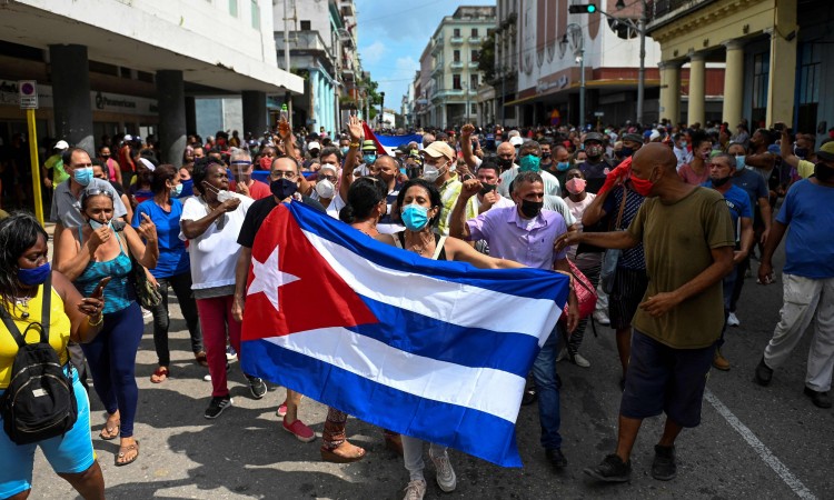
M 39 136 L 93 151 L 106 134 L 155 134 L 178 164 L 196 99 L 236 96 L 244 128 L 262 131 L 268 94 L 304 91 L 278 69 L 272 31 L 269 0 L 3 2 L 0 137 L 23 129 L 14 90 L 36 80 Z

